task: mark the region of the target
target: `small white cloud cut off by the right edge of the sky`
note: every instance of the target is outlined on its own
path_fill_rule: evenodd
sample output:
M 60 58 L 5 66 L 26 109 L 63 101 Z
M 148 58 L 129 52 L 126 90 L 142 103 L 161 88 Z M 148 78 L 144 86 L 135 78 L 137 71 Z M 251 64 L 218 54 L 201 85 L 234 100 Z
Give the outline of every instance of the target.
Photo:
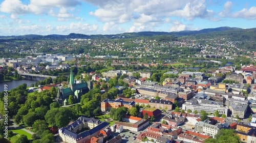
M 256 7 L 251 7 L 250 9 L 242 9 L 234 14 L 234 18 L 245 18 L 245 19 L 256 19 Z

